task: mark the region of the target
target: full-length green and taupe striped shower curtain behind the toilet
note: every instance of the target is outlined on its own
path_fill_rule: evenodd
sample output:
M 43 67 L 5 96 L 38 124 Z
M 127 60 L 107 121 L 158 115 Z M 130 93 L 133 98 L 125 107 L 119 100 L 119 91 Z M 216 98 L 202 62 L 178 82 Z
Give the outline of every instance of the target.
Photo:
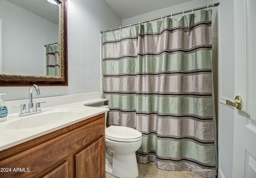
M 212 10 L 102 35 L 107 125 L 142 132 L 140 163 L 215 178 Z

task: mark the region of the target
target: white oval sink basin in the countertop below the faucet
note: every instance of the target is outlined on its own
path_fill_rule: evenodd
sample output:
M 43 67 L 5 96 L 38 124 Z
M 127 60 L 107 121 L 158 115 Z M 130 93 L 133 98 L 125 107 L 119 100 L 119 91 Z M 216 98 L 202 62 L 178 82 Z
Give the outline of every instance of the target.
M 9 124 L 6 124 L 6 129 L 26 129 L 35 128 L 40 126 L 46 126 L 57 122 L 64 122 L 74 116 L 77 116 L 82 111 L 79 109 L 59 108 L 50 111 L 45 111 L 39 114 L 33 114 L 30 116 L 24 116 L 18 118 Z

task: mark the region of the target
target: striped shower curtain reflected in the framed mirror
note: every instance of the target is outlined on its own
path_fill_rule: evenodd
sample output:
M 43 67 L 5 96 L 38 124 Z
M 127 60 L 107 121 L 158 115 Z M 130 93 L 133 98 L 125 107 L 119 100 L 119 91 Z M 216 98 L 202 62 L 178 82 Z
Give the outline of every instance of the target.
M 46 47 L 46 75 L 60 76 L 60 54 L 57 45 Z

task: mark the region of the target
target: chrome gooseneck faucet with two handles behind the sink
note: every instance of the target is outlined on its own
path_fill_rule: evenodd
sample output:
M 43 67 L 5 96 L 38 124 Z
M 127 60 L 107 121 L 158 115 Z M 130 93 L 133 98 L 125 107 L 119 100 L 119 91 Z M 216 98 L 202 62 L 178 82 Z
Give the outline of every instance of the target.
M 28 116 L 31 114 L 36 114 L 36 113 L 40 113 L 42 112 L 41 108 L 40 108 L 40 103 L 44 103 L 44 102 L 36 102 L 36 110 L 34 110 L 34 104 L 33 104 L 33 97 L 32 97 L 32 92 L 33 92 L 33 88 L 36 89 L 36 95 L 40 95 L 40 90 L 39 87 L 36 84 L 33 84 L 30 86 L 29 91 L 28 91 L 28 112 L 26 111 L 26 104 L 20 104 L 20 105 L 15 105 L 12 107 L 20 107 L 20 116 Z

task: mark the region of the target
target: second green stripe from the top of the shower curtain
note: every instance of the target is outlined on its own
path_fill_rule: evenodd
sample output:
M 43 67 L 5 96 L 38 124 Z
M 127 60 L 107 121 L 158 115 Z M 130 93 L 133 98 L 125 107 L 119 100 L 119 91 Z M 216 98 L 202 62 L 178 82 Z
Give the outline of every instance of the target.
M 162 55 L 160 57 L 138 58 L 144 65 L 138 68 L 137 60 L 122 59 L 104 62 L 104 71 L 106 74 L 122 74 L 136 72 L 158 72 L 159 70 L 194 70 L 197 68 L 212 68 L 211 64 L 206 60 L 198 60 L 209 58 L 212 56 L 211 51 L 198 51 L 193 54 L 173 54 Z M 137 58 L 136 58 L 137 59 Z M 124 67 L 126 66 L 126 67 Z

